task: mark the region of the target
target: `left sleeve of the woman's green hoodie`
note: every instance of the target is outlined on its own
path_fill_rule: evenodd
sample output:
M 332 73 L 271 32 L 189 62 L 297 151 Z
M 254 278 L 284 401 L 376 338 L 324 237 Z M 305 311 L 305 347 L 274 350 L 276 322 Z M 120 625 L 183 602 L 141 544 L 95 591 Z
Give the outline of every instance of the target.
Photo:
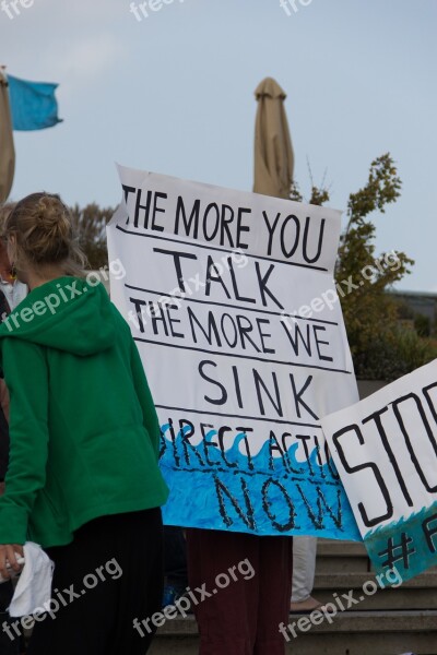
M 46 479 L 48 371 L 43 349 L 19 338 L 2 340 L 2 360 L 10 393 L 10 460 L 0 498 L 0 544 L 24 544 Z

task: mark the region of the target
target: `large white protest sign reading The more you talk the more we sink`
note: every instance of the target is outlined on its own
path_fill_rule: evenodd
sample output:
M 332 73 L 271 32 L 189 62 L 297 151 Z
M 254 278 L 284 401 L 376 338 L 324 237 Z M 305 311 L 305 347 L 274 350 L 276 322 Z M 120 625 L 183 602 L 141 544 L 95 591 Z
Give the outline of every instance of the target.
M 340 213 L 119 167 L 111 297 L 162 429 L 167 524 L 359 539 L 320 417 L 357 400 Z

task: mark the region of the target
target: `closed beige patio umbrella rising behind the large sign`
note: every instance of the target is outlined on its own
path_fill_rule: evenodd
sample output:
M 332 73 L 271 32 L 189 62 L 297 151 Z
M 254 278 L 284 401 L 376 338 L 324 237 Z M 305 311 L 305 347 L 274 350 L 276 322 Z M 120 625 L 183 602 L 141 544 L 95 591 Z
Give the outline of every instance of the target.
M 286 94 L 272 78 L 265 78 L 255 92 L 258 111 L 255 127 L 253 191 L 290 198 L 294 154 L 285 115 Z

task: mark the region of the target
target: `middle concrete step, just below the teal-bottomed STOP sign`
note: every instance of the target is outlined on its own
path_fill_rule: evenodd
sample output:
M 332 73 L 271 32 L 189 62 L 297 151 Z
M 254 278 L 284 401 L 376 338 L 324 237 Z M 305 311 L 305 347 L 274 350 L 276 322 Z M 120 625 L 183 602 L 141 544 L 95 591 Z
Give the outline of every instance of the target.
M 314 596 L 321 603 L 336 603 L 334 594 L 347 608 L 356 611 L 436 609 L 437 572 L 426 571 L 399 587 L 377 588 L 373 573 L 316 573 Z M 342 594 L 353 592 L 353 598 L 359 603 L 343 598 Z M 351 598 L 351 596 L 349 596 Z M 437 655 L 437 644 L 436 644 Z

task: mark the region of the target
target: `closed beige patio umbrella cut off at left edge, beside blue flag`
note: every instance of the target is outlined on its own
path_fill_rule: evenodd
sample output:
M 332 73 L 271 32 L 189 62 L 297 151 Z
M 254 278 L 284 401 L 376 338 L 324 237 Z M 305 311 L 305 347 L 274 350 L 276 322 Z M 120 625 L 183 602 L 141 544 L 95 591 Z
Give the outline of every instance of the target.
M 0 203 L 4 202 L 12 188 L 15 169 L 15 150 L 9 106 L 8 79 L 0 67 Z

